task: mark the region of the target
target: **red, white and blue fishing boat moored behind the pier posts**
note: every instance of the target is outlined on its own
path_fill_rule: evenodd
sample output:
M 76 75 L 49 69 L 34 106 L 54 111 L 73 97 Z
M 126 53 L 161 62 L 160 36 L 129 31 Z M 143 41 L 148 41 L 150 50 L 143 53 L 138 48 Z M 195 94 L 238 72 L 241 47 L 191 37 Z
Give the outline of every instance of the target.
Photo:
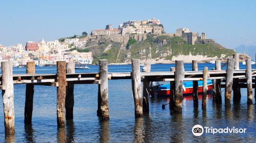
M 212 89 L 212 81 L 207 80 L 207 91 Z M 198 93 L 203 92 L 203 81 L 198 81 Z M 170 94 L 170 84 L 158 84 L 152 82 L 151 96 L 157 95 L 160 97 L 169 96 Z M 193 93 L 193 81 L 183 82 L 183 96 L 191 95 Z

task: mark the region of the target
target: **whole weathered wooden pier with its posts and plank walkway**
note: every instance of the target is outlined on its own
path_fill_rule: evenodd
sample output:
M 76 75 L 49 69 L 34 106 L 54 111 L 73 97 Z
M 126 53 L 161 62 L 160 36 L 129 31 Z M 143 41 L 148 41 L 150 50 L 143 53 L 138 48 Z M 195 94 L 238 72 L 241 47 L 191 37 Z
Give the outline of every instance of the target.
M 241 98 L 240 88 L 247 88 L 247 104 L 252 104 L 252 88 L 255 88 L 256 70 L 251 69 L 250 60 L 246 60 L 246 69 L 239 69 L 237 55 L 227 60 L 227 69 L 221 70 L 221 61 L 216 61 L 216 68 L 203 71 L 198 70 L 198 62 L 193 61 L 193 71 L 184 71 L 183 61 L 176 61 L 175 68 L 170 71 L 151 72 L 150 65 L 146 65 L 143 72 L 140 71 L 140 61 L 132 60 L 132 73 L 108 73 L 106 60 L 99 61 L 98 73 L 75 73 L 74 63 L 65 61 L 57 62 L 57 74 L 35 74 L 35 64 L 27 63 L 26 74 L 13 74 L 12 62 L 2 62 L 2 75 L 0 75 L 0 88 L 2 89 L 5 132 L 14 134 L 14 84 L 26 84 L 25 125 L 31 125 L 33 111 L 34 85 L 57 87 L 57 125 L 65 127 L 66 120 L 73 119 L 74 84 L 98 84 L 98 110 L 97 115 L 101 120 L 109 120 L 109 93 L 108 80 L 131 79 L 134 97 L 135 116 L 148 112 L 148 96 L 150 82 L 168 81 L 172 83 L 170 91 L 170 109 L 176 112 L 182 111 L 183 81 L 193 81 L 193 89 L 198 89 L 199 80 L 203 80 L 203 102 L 206 105 L 207 80 L 214 80 L 214 97 L 217 104 L 222 103 L 221 88 L 225 88 L 225 106 L 230 106 L 231 91 L 234 93 L 234 101 Z M 142 87 L 141 82 L 144 82 Z M 233 89 L 232 89 L 233 88 Z M 234 89 L 235 88 L 235 89 Z M 141 90 L 143 89 L 143 90 Z M 143 94 L 141 93 L 143 91 Z M 193 93 L 194 106 L 198 106 L 197 90 Z

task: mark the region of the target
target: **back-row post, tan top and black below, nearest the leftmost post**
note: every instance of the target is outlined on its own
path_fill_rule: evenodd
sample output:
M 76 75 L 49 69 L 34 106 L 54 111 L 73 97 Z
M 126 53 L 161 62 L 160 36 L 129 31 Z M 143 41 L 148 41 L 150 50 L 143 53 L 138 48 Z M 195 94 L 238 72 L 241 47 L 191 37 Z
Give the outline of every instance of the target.
M 26 73 L 35 74 L 34 62 L 27 62 Z M 26 101 L 25 101 L 25 112 L 24 112 L 25 125 L 32 124 L 33 98 L 34 98 L 34 85 L 26 84 Z

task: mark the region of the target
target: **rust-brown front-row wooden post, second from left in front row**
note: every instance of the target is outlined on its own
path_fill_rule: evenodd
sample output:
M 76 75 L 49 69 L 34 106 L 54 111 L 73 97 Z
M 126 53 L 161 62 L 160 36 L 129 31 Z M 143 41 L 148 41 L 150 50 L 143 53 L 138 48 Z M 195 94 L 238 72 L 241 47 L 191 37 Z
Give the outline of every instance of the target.
M 65 127 L 66 62 L 57 61 L 57 125 Z

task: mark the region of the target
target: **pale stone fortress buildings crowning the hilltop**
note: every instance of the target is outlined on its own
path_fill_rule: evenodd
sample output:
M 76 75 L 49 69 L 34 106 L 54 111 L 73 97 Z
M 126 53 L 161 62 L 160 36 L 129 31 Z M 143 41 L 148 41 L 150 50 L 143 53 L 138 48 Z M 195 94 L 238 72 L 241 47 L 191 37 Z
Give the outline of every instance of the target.
M 213 39 L 206 39 L 205 33 L 199 36 L 196 32 L 190 32 L 188 28 L 178 28 L 176 33 L 164 33 L 163 26 L 160 20 L 155 18 L 147 20 L 131 20 L 123 22 L 118 28 L 114 28 L 113 25 L 106 25 L 105 29 L 92 30 L 91 35 L 87 40 L 100 40 L 101 38 L 108 38 L 115 42 L 126 44 L 127 41 L 132 38 L 137 41 L 143 41 L 147 38 L 146 34 L 164 35 L 170 37 L 181 37 L 189 44 L 195 43 L 215 43 Z M 163 45 L 167 41 L 158 41 L 159 45 Z

